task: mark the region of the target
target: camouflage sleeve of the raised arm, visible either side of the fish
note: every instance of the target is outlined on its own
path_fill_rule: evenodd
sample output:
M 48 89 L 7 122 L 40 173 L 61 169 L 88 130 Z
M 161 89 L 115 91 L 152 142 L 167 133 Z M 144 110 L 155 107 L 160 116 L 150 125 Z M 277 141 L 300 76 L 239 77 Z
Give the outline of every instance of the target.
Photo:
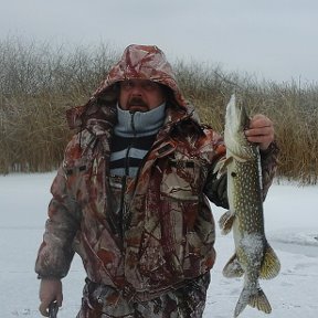
M 273 183 L 276 170 L 277 170 L 277 157 L 279 149 L 276 141 L 272 142 L 266 151 L 261 151 L 261 166 L 262 166 L 262 182 L 263 182 L 263 200 L 265 200 L 269 187 Z M 216 161 L 212 165 L 210 172 L 208 173 L 206 183 L 204 187 L 204 193 L 211 202 L 215 205 L 229 209 L 227 200 L 227 178 L 226 173 L 218 177 L 218 172 L 214 171 L 218 162 L 224 159 L 223 156 L 219 156 Z

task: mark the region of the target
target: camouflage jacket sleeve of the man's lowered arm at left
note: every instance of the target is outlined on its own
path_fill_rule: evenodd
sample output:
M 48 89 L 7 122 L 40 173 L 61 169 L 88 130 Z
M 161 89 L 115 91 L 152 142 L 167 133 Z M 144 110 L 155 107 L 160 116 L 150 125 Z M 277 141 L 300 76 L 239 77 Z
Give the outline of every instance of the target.
M 66 276 L 74 256 L 73 240 L 80 226 L 80 206 L 67 191 L 63 167 L 57 171 L 51 192 L 49 219 L 35 262 L 39 278 Z

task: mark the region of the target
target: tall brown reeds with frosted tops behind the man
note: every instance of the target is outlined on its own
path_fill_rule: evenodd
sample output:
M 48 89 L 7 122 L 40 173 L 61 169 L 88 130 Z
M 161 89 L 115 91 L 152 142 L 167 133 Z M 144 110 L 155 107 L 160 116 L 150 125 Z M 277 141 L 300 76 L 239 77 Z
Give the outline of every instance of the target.
M 110 45 L 0 41 L 0 173 L 56 169 L 72 131 L 65 110 L 84 104 L 119 57 Z M 317 184 L 317 83 L 258 81 L 220 66 L 172 62 L 179 85 L 201 120 L 222 134 L 225 105 L 236 92 L 251 114 L 275 125 L 278 178 Z

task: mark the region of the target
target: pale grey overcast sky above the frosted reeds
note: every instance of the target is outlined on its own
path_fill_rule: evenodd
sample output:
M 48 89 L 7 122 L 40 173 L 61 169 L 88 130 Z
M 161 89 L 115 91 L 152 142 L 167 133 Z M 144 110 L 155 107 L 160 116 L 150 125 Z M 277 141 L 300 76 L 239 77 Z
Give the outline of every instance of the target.
M 276 82 L 318 82 L 317 0 L 0 0 L 0 39 L 156 44 Z

